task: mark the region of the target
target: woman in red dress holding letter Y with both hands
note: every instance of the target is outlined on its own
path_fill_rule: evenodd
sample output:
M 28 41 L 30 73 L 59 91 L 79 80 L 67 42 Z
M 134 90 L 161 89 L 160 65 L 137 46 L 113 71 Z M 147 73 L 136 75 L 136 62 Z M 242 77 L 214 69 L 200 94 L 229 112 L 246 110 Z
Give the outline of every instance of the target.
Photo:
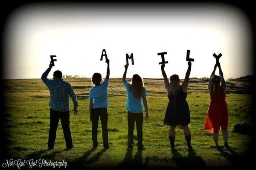
M 219 75 L 215 75 L 216 67 L 219 68 Z M 212 133 L 215 145 L 218 146 L 218 130 L 222 130 L 222 136 L 225 142 L 225 147 L 228 147 L 228 111 L 226 98 L 226 82 L 223 78 L 223 72 L 221 65 L 217 62 L 214 66 L 213 72 L 209 79 L 208 89 L 211 96 L 211 101 L 206 115 L 204 123 L 204 129 Z

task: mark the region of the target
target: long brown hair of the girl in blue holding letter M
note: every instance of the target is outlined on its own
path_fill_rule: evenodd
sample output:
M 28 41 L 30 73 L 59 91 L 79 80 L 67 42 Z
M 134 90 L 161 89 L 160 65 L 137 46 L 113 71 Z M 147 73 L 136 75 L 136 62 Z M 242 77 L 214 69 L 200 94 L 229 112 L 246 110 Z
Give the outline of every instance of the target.
M 133 75 L 131 79 L 131 91 L 135 98 L 142 96 L 143 88 L 143 79 L 137 74 Z

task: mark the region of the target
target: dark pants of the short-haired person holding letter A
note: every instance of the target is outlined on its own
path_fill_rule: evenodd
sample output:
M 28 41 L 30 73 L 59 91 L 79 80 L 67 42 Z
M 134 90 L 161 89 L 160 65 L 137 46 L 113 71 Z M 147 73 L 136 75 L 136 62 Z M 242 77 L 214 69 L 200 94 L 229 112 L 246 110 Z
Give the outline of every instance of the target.
M 95 108 L 91 112 L 93 147 L 99 144 L 97 141 L 99 118 L 102 125 L 103 146 L 108 147 L 108 110 L 106 107 Z

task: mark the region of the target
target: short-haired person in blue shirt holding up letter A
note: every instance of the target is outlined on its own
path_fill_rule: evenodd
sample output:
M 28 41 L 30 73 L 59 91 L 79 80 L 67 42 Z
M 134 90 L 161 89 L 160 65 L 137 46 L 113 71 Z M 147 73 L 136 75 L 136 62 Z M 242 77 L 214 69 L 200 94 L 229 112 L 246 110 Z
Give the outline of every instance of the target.
M 90 120 L 92 121 L 92 140 L 93 147 L 98 147 L 97 135 L 98 135 L 98 124 L 99 118 L 102 124 L 102 138 L 103 147 L 109 148 L 108 145 L 108 79 L 109 79 L 109 60 L 107 75 L 105 81 L 102 80 L 100 73 L 94 73 L 92 77 L 92 84 L 94 85 L 89 92 L 89 111 Z M 103 81 L 103 82 L 102 82 Z

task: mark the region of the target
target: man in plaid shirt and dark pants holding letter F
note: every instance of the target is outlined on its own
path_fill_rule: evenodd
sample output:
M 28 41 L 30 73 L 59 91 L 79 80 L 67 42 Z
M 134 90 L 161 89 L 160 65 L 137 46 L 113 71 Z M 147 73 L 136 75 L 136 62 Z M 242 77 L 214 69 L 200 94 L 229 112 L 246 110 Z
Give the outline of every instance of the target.
M 69 96 L 72 98 L 75 115 L 78 115 L 78 103 L 76 95 L 69 83 L 62 80 L 61 71 L 57 70 L 53 73 L 53 80 L 47 78 L 49 72 L 52 69 L 52 63 L 49 64 L 49 68 L 43 73 L 41 79 L 50 91 L 50 130 L 48 149 L 52 150 L 55 143 L 56 131 L 58 127 L 59 119 L 61 119 L 61 126 L 64 133 L 67 149 L 73 148 L 71 132 L 70 132 L 70 108 L 69 108 Z

